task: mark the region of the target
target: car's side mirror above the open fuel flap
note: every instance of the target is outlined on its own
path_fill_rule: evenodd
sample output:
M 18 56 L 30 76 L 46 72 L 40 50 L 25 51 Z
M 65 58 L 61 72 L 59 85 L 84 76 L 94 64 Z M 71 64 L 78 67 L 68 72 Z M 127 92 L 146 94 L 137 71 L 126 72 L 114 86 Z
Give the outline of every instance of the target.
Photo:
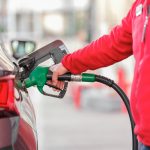
M 36 43 L 34 41 L 28 40 L 12 40 L 11 49 L 13 52 L 13 57 L 19 59 L 26 54 L 33 52 L 36 48 Z

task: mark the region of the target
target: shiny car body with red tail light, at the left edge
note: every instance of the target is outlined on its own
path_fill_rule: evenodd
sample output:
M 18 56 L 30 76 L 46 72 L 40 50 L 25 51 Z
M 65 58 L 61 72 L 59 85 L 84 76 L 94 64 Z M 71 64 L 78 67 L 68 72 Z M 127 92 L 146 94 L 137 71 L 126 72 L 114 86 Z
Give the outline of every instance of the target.
M 15 84 L 15 63 L 0 43 L 0 149 L 37 150 L 36 117 L 26 89 Z

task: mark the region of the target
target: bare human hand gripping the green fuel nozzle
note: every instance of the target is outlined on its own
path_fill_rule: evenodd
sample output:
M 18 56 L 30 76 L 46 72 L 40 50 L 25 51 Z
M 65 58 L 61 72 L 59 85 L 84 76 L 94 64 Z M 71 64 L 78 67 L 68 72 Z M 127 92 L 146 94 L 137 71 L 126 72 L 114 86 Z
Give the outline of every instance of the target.
M 58 76 L 67 73 L 68 70 L 63 66 L 62 63 L 53 65 L 49 69 L 53 72 L 52 85 L 58 87 L 59 89 L 63 89 L 64 82 L 58 81 Z

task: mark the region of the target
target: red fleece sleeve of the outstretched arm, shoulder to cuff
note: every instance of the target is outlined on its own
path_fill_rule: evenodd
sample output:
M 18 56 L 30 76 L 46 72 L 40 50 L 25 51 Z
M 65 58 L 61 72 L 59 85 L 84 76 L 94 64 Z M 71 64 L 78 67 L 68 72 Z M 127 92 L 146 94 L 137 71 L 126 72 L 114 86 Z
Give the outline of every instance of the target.
M 131 12 L 122 20 L 121 25 L 112 29 L 84 48 L 66 55 L 62 64 L 74 74 L 86 70 L 109 66 L 132 54 L 132 23 Z

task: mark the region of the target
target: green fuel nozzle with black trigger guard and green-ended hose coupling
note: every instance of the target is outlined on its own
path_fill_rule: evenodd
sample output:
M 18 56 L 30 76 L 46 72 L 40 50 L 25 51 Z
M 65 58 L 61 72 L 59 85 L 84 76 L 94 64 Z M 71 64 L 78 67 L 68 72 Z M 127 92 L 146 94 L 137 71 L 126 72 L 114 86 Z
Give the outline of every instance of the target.
M 52 80 L 52 71 L 49 70 L 49 67 L 36 67 L 29 75 L 28 78 L 24 79 L 22 82 L 20 80 L 16 81 L 16 84 L 19 88 L 29 88 L 32 86 L 37 86 L 38 90 L 47 96 L 52 96 L 51 94 L 47 94 L 44 92 L 43 88 L 45 85 L 56 88 L 51 84 L 48 84 L 48 81 Z M 95 82 L 96 75 L 94 74 L 88 74 L 88 73 L 83 73 L 81 75 L 73 75 L 71 73 L 66 73 L 64 75 L 61 75 L 58 77 L 59 81 L 75 81 L 75 82 Z M 67 83 L 66 83 L 67 84 Z M 67 90 L 67 85 L 64 87 L 63 90 L 60 90 L 61 94 L 60 96 L 54 96 L 53 97 L 58 97 L 58 98 L 63 98 L 63 96 L 66 93 Z

